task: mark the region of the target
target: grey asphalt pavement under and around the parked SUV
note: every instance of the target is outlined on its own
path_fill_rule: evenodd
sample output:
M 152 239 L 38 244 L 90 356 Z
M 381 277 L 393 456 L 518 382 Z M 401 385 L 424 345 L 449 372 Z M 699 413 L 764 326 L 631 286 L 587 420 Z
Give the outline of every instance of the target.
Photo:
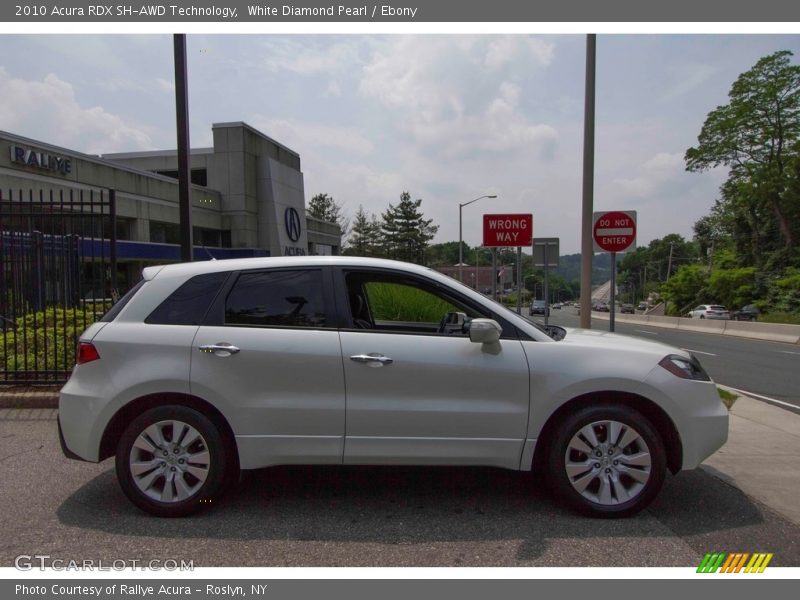
M 724 460 L 668 477 L 648 510 L 623 520 L 567 511 L 530 473 L 410 467 L 266 469 L 211 510 L 164 520 L 123 497 L 113 461 L 65 459 L 54 410 L 5 409 L 0 564 L 49 554 L 196 567 L 696 567 L 706 552 L 745 551 L 773 552 L 772 566 L 800 565 L 797 521 L 722 468 Z

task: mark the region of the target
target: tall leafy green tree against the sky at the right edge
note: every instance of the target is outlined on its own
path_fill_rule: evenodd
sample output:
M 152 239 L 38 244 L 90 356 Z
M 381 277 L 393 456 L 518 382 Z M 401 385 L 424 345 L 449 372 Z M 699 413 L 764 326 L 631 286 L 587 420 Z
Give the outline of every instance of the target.
M 787 50 L 775 52 L 741 74 L 728 93 L 730 102 L 709 113 L 698 145 L 685 156 L 688 171 L 730 168 L 718 208 L 749 225 L 744 233 L 757 244 L 753 254 L 769 248 L 763 234 L 770 228 L 765 232 L 761 222 L 765 207 L 775 224 L 772 237 L 777 234 L 789 255 L 797 243 L 790 219 L 797 200 L 787 190 L 800 156 L 800 66 L 791 57 Z

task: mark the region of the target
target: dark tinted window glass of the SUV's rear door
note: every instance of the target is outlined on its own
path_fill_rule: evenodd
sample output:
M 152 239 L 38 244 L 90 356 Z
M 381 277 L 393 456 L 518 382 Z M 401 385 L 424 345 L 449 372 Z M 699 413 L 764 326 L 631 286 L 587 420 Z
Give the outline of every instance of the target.
M 242 273 L 225 302 L 225 324 L 245 327 L 331 327 L 325 310 L 322 271 Z

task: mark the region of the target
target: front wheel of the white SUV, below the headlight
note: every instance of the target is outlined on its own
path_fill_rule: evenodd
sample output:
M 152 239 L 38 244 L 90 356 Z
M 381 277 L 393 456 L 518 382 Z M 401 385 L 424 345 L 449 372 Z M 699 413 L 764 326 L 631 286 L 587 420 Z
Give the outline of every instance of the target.
M 551 487 L 557 497 L 584 514 L 605 518 L 636 514 L 652 502 L 664 483 L 664 443 L 650 422 L 633 409 L 580 409 L 559 423 L 550 439 Z

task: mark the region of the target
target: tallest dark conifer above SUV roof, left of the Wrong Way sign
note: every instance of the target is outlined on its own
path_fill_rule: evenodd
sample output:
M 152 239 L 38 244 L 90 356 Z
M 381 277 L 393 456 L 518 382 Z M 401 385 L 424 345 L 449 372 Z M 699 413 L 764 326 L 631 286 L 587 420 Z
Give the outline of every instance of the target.
M 423 264 L 425 248 L 436 235 L 439 227 L 433 219 L 425 219 L 420 209 L 422 199 L 411 199 L 411 194 L 400 194 L 397 206 L 381 215 L 381 232 L 386 255 L 396 260 Z

